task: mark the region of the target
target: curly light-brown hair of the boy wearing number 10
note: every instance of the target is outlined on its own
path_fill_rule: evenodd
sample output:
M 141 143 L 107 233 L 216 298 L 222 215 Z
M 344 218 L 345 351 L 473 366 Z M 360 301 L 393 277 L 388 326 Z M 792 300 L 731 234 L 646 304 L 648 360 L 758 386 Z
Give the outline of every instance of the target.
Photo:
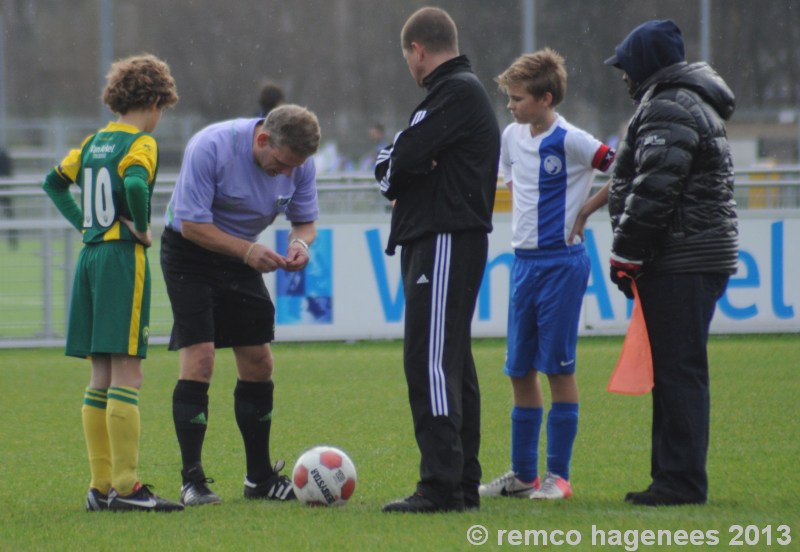
M 178 103 L 178 90 L 169 65 L 152 54 L 115 61 L 106 75 L 103 103 L 119 115 L 153 104 L 172 107 Z

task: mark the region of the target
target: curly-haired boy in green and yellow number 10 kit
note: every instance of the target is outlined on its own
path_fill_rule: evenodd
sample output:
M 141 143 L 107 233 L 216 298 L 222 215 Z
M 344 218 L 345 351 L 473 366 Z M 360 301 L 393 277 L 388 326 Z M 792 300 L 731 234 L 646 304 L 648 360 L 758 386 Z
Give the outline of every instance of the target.
M 84 140 L 43 187 L 83 234 L 75 267 L 66 354 L 90 358 L 82 419 L 91 482 L 88 511 L 182 510 L 137 475 L 141 360 L 147 355 L 152 244 L 150 196 L 158 146 L 150 136 L 178 95 L 169 66 L 152 55 L 111 66 L 103 101 L 119 118 Z M 78 204 L 69 191 L 81 190 Z

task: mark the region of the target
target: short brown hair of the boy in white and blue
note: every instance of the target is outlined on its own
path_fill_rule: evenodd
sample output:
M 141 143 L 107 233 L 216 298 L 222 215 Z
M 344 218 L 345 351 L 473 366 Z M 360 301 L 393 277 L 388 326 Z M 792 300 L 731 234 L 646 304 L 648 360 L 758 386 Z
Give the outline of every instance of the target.
M 510 86 L 523 85 L 534 98 L 541 98 L 550 92 L 554 107 L 564 100 L 567 93 L 564 58 L 550 48 L 521 55 L 494 80 L 503 91 L 507 91 Z

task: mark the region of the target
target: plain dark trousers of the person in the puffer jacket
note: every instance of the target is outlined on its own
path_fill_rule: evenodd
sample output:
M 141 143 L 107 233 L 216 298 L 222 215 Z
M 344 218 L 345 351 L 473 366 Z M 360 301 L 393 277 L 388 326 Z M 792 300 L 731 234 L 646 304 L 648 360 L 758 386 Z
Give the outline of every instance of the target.
M 645 274 L 637 280 L 653 356 L 650 488 L 681 500 L 708 496 L 706 346 L 727 283 L 727 274 Z

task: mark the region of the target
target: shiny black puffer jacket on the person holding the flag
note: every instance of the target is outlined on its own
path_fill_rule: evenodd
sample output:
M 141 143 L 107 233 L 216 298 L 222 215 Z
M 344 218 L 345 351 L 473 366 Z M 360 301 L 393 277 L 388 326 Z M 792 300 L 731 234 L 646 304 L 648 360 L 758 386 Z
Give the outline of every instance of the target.
M 612 251 L 643 272 L 736 272 L 733 163 L 724 121 L 728 86 L 705 63 L 676 63 L 641 98 L 617 150 L 609 191 Z

